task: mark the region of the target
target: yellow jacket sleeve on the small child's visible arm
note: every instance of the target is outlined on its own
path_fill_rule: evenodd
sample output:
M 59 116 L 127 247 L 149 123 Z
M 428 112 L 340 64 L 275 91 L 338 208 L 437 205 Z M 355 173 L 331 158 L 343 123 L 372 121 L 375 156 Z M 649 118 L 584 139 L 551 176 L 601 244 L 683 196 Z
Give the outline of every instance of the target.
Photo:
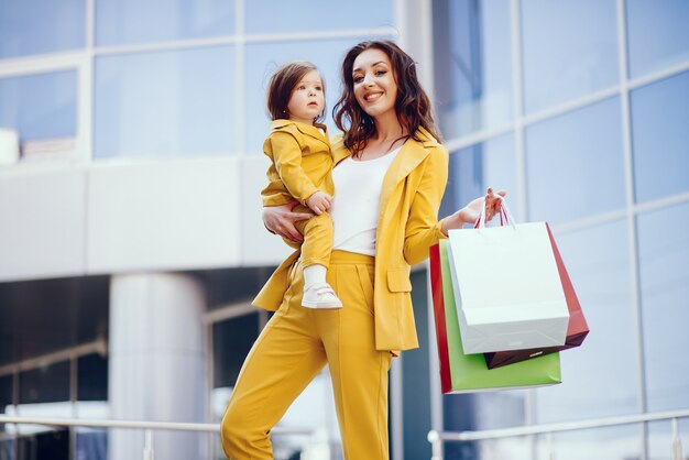
M 302 149 L 294 135 L 276 131 L 270 136 L 275 169 L 294 198 L 306 206 L 308 197 L 318 191 L 302 168 Z

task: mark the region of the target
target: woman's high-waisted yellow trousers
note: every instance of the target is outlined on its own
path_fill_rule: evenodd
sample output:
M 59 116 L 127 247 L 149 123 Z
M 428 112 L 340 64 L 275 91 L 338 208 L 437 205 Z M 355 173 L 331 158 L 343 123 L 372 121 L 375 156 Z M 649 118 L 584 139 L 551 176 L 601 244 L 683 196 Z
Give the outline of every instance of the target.
M 231 460 L 271 460 L 271 428 L 327 363 L 346 460 L 387 460 L 387 372 L 392 354 L 376 351 L 374 259 L 333 251 L 327 281 L 340 309 L 302 307 L 302 262 L 291 273 L 281 308 L 239 374 L 222 418 Z

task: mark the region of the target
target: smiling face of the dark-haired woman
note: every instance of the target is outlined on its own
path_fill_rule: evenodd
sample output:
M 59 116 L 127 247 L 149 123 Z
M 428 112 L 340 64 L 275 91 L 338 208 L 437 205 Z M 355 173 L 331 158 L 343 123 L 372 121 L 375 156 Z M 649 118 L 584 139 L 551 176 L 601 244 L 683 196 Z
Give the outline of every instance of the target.
M 397 83 L 387 54 L 369 48 L 354 59 L 352 69 L 357 102 L 373 118 L 395 112 Z

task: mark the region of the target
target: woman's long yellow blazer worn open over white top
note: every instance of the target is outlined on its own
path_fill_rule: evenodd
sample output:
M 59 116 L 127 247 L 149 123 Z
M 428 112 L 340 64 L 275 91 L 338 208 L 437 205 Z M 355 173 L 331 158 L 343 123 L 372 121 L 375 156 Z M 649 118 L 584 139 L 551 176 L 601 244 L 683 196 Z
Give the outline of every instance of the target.
M 412 309 L 411 266 L 428 256 L 441 238 L 438 209 L 445 193 L 449 155 L 428 131 L 419 128 L 390 165 L 381 191 L 378 218 L 373 307 L 376 350 L 408 350 L 418 347 Z M 342 140 L 332 145 L 337 163 L 351 153 Z M 254 298 L 253 305 L 276 310 L 289 283 L 289 269 L 299 251 L 291 254 Z M 347 308 L 347 307 L 344 307 Z

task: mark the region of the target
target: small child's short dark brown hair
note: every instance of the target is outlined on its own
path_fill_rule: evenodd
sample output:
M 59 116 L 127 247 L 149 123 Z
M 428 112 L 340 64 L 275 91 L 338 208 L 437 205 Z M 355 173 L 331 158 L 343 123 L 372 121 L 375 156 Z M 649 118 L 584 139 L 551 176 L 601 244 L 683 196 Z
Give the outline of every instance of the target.
M 271 120 L 277 120 L 280 118 L 289 118 L 287 106 L 289 105 L 289 98 L 292 98 L 292 91 L 297 86 L 299 80 L 304 78 L 306 74 L 311 70 L 318 70 L 311 63 L 307 62 L 293 62 L 287 63 L 273 74 L 271 80 L 267 84 L 267 112 L 271 116 Z M 322 84 L 322 92 L 326 92 L 326 83 L 320 76 L 320 83 Z M 322 113 L 318 116 L 314 121 L 321 121 L 325 118 L 325 108 Z

